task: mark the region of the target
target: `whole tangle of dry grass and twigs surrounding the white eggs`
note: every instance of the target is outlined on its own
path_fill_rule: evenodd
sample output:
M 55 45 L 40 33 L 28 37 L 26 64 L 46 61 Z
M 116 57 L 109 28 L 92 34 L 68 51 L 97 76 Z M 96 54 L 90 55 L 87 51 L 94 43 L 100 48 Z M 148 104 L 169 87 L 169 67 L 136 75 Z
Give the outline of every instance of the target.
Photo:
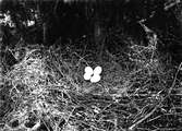
M 113 34 L 126 46 L 105 48 L 101 56 L 86 38 L 80 46 L 60 46 L 60 39 L 49 47 L 26 39 L 1 46 L 0 130 L 180 131 L 182 67 L 172 64 L 158 49 L 158 35 L 139 24 L 147 44 Z M 102 67 L 98 83 L 83 79 L 86 66 Z

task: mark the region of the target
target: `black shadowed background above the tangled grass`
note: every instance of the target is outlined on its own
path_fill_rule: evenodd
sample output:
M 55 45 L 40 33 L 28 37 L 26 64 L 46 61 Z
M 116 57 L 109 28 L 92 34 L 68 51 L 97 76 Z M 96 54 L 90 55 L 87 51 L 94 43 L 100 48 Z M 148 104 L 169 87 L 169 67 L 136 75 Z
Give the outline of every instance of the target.
M 1 26 L 2 49 L 14 47 L 21 38 L 27 44 L 47 47 L 68 44 L 98 49 L 107 37 L 105 48 L 125 46 L 123 39 L 132 37 L 138 44 L 147 45 L 146 33 L 138 24 L 153 29 L 160 39 L 158 49 L 170 53 L 173 60 L 181 61 L 182 22 L 180 4 L 165 10 L 170 0 L 110 0 L 110 1 L 19 1 L 3 0 L 1 12 L 10 11 L 15 28 Z M 34 17 L 34 11 L 37 17 Z M 34 26 L 23 25 L 23 21 L 36 20 Z M 12 32 L 15 33 L 12 33 Z M 116 36 L 119 37 L 116 37 Z M 124 38 L 123 38 L 124 37 Z M 86 39 L 86 43 L 81 43 Z M 114 43 L 113 43 L 114 41 Z

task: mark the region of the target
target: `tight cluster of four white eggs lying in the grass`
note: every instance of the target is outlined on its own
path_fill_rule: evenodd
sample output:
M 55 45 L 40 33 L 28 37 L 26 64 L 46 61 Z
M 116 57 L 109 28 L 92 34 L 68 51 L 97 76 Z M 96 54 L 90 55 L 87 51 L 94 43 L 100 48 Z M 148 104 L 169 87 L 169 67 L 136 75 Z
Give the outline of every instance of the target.
M 94 70 L 90 67 L 85 68 L 84 80 L 90 81 L 92 83 L 97 83 L 100 81 L 101 67 L 97 66 Z

